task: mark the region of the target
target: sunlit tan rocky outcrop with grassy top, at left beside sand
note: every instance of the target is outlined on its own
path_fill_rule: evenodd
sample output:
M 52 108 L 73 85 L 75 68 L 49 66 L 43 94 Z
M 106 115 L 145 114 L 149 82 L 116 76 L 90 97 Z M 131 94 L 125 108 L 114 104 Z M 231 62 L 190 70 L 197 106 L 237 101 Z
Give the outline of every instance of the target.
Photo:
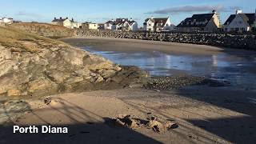
M 42 96 L 142 85 L 148 74 L 50 38 L 0 26 L 0 95 Z

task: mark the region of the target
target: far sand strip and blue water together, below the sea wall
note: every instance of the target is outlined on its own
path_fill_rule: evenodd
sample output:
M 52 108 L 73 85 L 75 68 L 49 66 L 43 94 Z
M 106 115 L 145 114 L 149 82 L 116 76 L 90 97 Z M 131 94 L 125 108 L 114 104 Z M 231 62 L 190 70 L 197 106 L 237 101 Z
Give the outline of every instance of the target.
M 216 46 L 122 38 L 65 38 L 64 42 L 124 66 L 138 66 L 151 75 L 193 75 L 256 90 L 256 52 Z

